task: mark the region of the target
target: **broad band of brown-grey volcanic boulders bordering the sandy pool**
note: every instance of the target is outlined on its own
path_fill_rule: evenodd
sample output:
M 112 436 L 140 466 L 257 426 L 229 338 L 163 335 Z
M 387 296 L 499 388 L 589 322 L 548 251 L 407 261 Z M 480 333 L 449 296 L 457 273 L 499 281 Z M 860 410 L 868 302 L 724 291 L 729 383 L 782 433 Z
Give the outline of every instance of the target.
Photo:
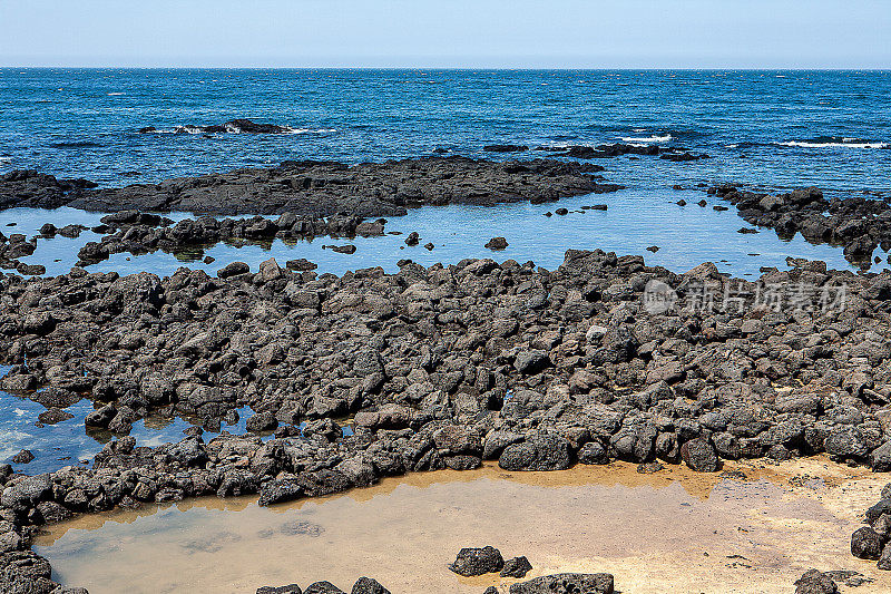
M 6 274 L 3 390 L 58 411 L 86 396 L 87 425 L 119 436 L 148 412 L 255 416 L 249 435 L 207 442 L 198 427 L 156 448 L 120 437 L 91 468 L 6 467 L 0 580 L 56 587 L 28 549 L 43 523 L 207 494 L 272 505 L 482 460 L 715 471 L 825 452 L 888 470 L 891 273 L 790 263 L 754 282 L 571 250 L 556 271 L 402 261 L 337 277 L 270 260 L 218 279 Z

